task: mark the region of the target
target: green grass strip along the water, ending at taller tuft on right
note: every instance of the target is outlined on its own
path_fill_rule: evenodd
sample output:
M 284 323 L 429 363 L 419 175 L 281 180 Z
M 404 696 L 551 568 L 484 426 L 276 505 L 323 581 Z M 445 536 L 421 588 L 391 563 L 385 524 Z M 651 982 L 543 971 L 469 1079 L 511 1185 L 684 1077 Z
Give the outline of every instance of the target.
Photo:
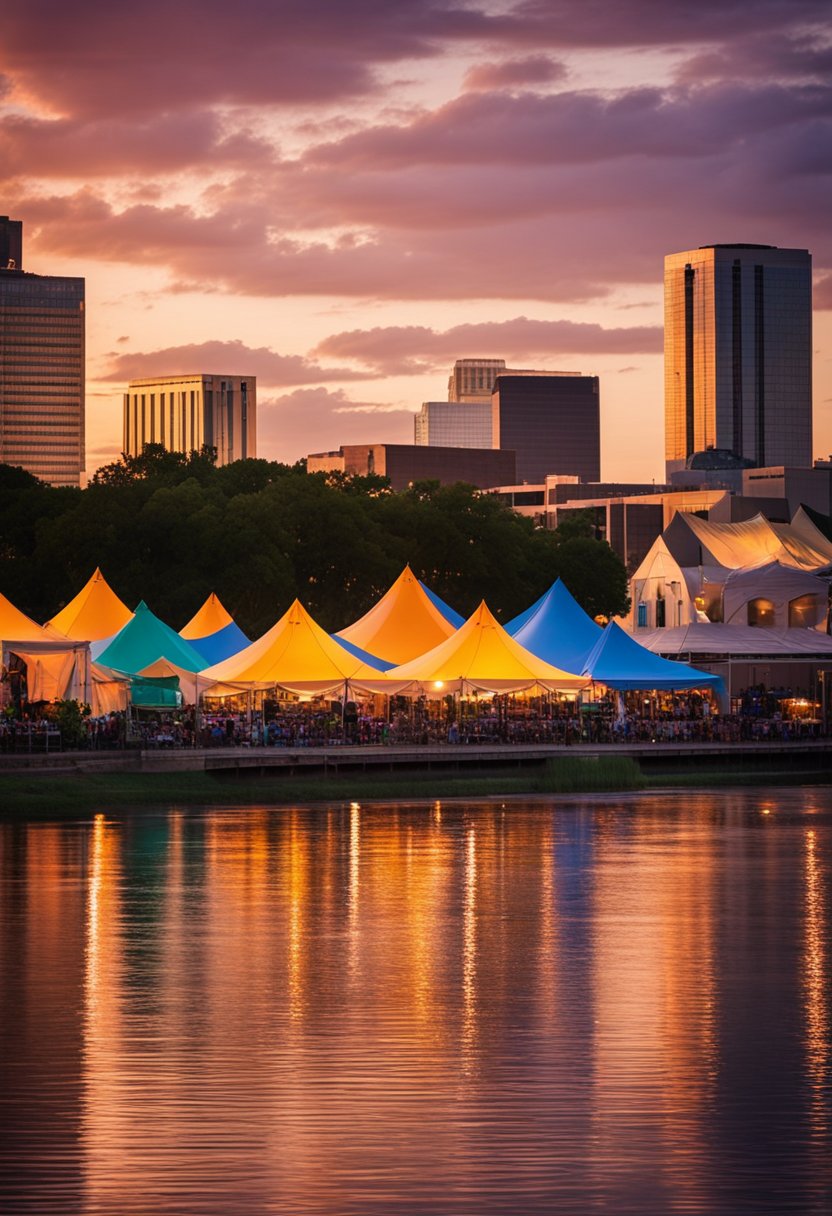
M 341 776 L 220 778 L 190 773 L 73 773 L 69 777 L 0 777 L 4 814 L 67 815 L 119 806 L 243 806 L 344 799 L 489 798 L 500 794 L 579 794 L 642 789 L 645 778 L 629 756 L 594 760 L 564 756 L 525 770 L 349 772 Z

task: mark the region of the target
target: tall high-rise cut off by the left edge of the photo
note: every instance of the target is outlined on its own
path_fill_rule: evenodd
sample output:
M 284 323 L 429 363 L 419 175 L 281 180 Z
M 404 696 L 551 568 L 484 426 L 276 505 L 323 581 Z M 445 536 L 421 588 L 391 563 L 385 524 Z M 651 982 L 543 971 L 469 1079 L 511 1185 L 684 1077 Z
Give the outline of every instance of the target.
M 50 485 L 84 472 L 84 280 L 23 271 L 23 224 L 0 215 L 0 461 Z

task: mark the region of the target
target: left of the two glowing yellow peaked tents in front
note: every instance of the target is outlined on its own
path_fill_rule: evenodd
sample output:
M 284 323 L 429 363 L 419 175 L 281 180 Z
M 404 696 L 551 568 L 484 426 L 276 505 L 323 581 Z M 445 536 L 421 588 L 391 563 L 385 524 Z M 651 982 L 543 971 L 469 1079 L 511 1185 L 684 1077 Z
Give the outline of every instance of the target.
M 199 688 L 212 697 L 275 686 L 326 693 L 365 679 L 377 683 L 380 672 L 339 646 L 296 599 L 257 642 L 201 671 Z

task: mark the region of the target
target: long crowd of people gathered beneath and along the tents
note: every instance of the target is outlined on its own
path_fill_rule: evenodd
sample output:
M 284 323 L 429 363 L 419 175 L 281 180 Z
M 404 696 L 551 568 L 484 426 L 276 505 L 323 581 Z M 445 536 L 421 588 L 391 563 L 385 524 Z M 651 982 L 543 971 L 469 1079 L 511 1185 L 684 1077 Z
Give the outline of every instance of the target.
M 802 711 L 796 711 L 796 705 Z M 249 706 L 215 704 L 195 713 L 134 710 L 102 716 L 84 714 L 80 737 L 62 737 L 49 706 L 7 708 L 0 714 L 0 751 L 54 751 L 62 748 L 307 748 L 480 745 L 488 743 L 572 747 L 606 743 L 788 742 L 825 737 L 828 722 L 819 706 L 792 689 L 744 689 L 731 713 L 698 693 L 675 697 L 609 694 L 580 705 L 556 698 L 482 698 L 473 702 L 407 700 L 362 705 L 348 702 L 280 703 Z

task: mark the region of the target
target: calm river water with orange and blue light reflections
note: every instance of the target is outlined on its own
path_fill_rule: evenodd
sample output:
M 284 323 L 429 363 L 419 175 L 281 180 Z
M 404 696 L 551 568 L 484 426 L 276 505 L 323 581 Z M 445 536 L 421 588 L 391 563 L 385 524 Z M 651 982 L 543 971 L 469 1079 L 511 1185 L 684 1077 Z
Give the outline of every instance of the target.
M 0 1211 L 832 1212 L 832 792 L 0 821 Z

